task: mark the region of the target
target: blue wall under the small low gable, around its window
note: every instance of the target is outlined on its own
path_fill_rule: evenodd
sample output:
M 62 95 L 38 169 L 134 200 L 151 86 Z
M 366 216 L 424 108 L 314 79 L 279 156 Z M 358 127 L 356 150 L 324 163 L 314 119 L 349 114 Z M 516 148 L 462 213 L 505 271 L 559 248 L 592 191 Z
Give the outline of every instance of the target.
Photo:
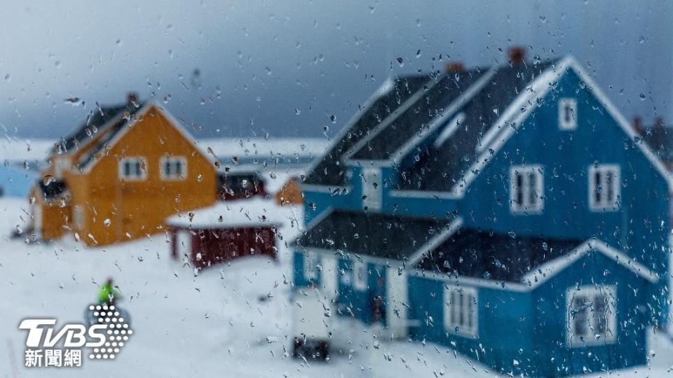
M 576 286 L 616 286 L 617 339 L 614 344 L 569 347 L 566 295 Z M 648 284 L 602 253 L 591 253 L 533 290 L 536 375 L 601 372 L 646 363 L 648 307 L 642 296 Z M 550 356 L 556 362 L 549 360 Z M 556 369 L 559 369 L 558 371 Z

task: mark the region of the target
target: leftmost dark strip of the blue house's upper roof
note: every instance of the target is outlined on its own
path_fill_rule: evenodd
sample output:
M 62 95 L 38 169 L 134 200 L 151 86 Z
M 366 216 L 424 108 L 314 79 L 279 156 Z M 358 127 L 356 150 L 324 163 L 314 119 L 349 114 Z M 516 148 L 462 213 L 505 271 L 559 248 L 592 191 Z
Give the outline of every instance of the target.
M 324 156 L 315 168 L 306 175 L 307 184 L 341 186 L 346 183 L 341 157 L 367 135 L 376 125 L 381 123 L 390 113 L 393 113 L 400 104 L 428 83 L 430 76 L 414 75 L 393 79 L 392 89 L 372 102 L 372 105 L 362 113 L 358 120 L 350 127 L 343 137 Z

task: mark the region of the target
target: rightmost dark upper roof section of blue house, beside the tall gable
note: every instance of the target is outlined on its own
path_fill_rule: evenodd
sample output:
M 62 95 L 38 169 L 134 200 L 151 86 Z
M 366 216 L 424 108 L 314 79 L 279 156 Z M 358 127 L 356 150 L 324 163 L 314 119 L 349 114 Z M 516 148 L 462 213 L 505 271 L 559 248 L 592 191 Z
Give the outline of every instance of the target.
M 461 180 L 477 160 L 477 147 L 510 103 L 553 62 L 498 67 L 489 83 L 459 111 L 465 119 L 440 146 L 432 144 L 415 165 L 407 169 L 398 187 L 402 190 L 447 191 Z

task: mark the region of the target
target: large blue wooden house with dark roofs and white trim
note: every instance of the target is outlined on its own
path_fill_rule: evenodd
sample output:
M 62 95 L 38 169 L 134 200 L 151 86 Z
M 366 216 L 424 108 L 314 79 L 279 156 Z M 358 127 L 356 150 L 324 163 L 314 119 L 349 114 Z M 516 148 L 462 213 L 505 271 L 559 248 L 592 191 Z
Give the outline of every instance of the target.
M 644 364 L 672 185 L 572 57 L 391 78 L 306 176 L 294 282 L 502 372 Z

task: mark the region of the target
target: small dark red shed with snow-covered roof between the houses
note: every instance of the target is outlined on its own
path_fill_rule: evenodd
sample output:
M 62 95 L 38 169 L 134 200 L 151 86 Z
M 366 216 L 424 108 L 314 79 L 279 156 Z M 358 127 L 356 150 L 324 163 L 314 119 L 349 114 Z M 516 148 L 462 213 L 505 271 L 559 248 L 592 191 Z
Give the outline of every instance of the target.
M 168 218 L 173 258 L 188 256 L 203 268 L 236 258 L 276 258 L 276 230 L 283 221 L 273 200 L 254 198 L 219 202 Z

